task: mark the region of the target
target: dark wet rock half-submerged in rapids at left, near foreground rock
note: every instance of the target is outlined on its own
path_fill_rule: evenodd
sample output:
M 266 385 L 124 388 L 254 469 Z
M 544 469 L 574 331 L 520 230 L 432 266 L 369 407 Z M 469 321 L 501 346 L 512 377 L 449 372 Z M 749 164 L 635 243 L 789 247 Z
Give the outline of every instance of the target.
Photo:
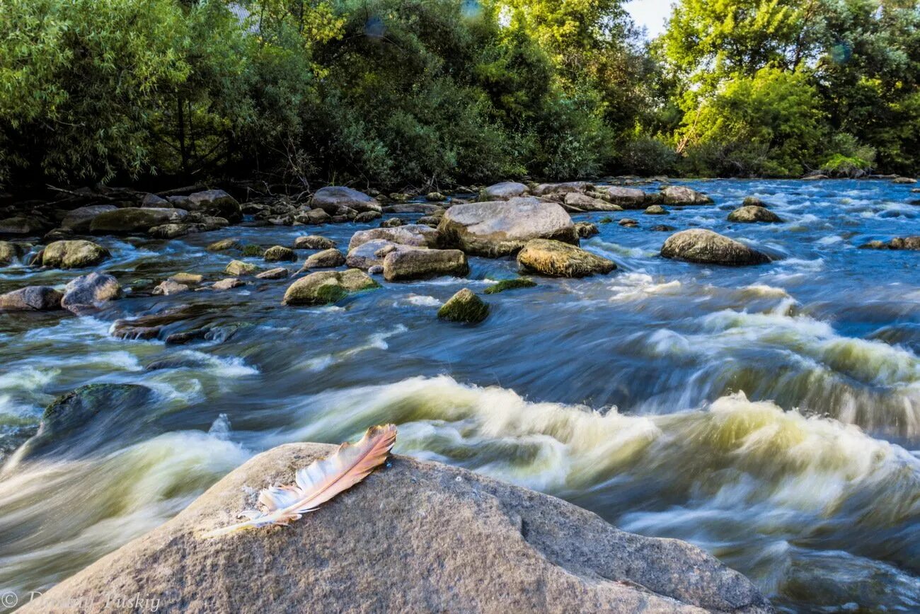
M 57 449 L 68 456 L 98 447 L 94 438 L 84 437 L 85 429 L 111 431 L 114 424 L 136 421 L 144 405 L 154 398 L 146 386 L 123 383 L 88 384 L 64 394 L 45 408 L 39 431 L 24 445 L 22 458 L 34 458 Z

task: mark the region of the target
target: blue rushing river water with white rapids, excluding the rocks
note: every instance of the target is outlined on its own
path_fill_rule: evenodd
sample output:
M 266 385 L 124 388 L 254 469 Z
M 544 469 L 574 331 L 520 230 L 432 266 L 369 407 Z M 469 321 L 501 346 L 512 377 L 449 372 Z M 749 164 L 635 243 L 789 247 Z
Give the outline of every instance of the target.
M 385 283 L 331 307 L 282 307 L 289 282 L 279 280 L 129 294 L 91 317 L 0 314 L 0 429 L 37 424 L 55 396 L 86 383 L 142 383 L 156 395 L 113 408 L 119 419 L 82 441 L 7 465 L 0 592 L 52 586 L 260 450 L 338 442 L 393 421 L 397 452 L 696 543 L 779 608 L 917 611 L 920 256 L 857 245 L 920 234 L 910 204 L 920 195 L 868 181 L 688 185 L 716 203 L 662 217 L 575 216 L 641 223 L 598 224 L 601 234 L 582 241 L 619 269 L 489 295 L 489 319 L 475 327 L 439 322 L 437 307 L 460 288 L 513 277 L 512 259 L 472 258 L 468 279 Z M 784 222 L 726 222 L 750 195 Z M 712 228 L 776 261 L 665 260 L 668 233 L 650 230 L 660 223 Z M 344 248 L 363 227 L 99 242 L 113 254 L 102 268 L 130 287 L 179 271 L 224 277 L 233 256 L 204 249 L 224 237 L 270 246 L 319 233 Z M 0 290 L 74 275 L 7 267 Z M 209 307 L 195 322 L 214 325 L 211 340 L 109 335 L 117 318 L 189 303 Z

